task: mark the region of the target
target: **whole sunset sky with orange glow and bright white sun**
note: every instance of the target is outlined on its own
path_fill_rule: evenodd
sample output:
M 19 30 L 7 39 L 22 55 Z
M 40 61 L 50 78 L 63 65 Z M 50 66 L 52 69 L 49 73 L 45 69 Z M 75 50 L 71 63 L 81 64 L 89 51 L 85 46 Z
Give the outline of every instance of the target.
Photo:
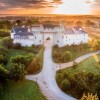
M 0 0 L 0 14 L 100 15 L 100 0 Z

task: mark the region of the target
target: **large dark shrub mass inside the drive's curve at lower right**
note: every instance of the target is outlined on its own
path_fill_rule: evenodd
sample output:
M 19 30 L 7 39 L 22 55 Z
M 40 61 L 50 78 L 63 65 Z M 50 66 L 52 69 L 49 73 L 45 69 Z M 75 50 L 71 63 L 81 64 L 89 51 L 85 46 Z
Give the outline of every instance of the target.
M 71 94 L 75 98 L 81 98 L 83 93 L 97 94 L 100 98 L 100 74 L 79 72 L 63 76 L 62 73 L 58 73 L 56 80 L 65 93 Z

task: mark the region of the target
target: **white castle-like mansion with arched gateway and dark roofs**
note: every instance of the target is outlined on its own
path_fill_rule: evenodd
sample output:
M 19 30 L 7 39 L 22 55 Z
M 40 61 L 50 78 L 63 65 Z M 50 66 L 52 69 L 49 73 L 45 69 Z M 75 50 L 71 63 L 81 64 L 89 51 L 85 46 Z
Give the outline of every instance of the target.
M 11 38 L 13 43 L 20 43 L 22 46 L 43 45 L 48 40 L 59 47 L 88 42 L 88 34 L 81 27 L 67 28 L 62 24 L 15 27 L 11 30 Z

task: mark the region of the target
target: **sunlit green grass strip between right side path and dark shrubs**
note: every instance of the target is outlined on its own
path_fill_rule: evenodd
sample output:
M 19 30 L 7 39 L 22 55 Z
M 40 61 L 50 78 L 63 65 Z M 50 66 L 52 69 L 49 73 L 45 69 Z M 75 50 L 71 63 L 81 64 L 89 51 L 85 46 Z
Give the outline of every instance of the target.
M 97 58 L 100 62 L 100 54 L 97 55 Z M 87 72 L 87 73 L 94 73 L 94 74 L 100 74 L 100 64 L 96 62 L 96 58 L 94 56 L 82 61 L 81 63 L 77 64 L 75 68 L 69 67 L 65 68 L 63 70 L 60 70 L 61 73 L 67 73 L 68 75 L 75 74 L 77 72 Z

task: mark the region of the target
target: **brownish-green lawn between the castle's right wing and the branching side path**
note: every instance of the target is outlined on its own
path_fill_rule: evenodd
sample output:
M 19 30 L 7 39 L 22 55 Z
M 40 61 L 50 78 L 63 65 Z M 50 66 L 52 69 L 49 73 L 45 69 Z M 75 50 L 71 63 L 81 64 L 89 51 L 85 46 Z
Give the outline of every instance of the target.
M 66 51 L 69 51 L 72 55 L 70 61 L 74 60 L 77 57 L 80 57 L 84 54 L 93 52 L 90 45 L 88 45 L 88 44 L 81 44 L 81 45 L 76 45 L 76 46 L 73 45 L 73 46 L 64 46 L 64 47 L 53 47 L 53 51 L 52 51 L 53 61 L 56 62 L 56 63 L 66 63 L 66 62 L 68 62 L 68 61 L 63 62 L 63 60 L 59 60 L 59 58 Z M 58 54 L 60 54 L 60 56 L 55 57 L 55 52 L 59 52 Z

